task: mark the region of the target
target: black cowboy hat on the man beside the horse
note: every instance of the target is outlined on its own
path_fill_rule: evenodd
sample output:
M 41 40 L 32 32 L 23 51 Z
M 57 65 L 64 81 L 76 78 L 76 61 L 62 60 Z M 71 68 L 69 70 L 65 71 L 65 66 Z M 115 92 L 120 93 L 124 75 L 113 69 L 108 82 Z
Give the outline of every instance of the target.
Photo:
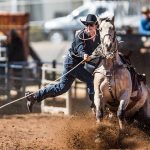
M 97 24 L 97 17 L 93 14 L 88 14 L 86 20 L 81 20 L 81 22 L 86 26 L 89 24 Z

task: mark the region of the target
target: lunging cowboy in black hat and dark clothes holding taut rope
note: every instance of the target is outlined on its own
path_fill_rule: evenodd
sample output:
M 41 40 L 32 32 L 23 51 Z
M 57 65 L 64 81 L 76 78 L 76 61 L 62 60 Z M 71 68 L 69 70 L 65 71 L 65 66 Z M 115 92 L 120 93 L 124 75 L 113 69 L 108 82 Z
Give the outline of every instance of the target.
M 62 78 L 57 84 L 49 84 L 44 89 L 40 89 L 36 93 L 26 92 L 27 107 L 32 112 L 32 107 L 35 102 L 41 102 L 47 97 L 55 97 L 67 92 L 73 81 L 78 78 L 87 84 L 88 95 L 91 101 L 90 107 L 93 109 L 94 105 L 94 85 L 93 75 L 84 68 L 84 64 L 80 64 L 70 73 L 68 71 L 73 69 L 82 60 L 89 62 L 90 55 L 94 49 L 100 44 L 100 36 L 97 31 L 97 17 L 93 14 L 88 14 L 85 21 L 81 22 L 85 25 L 85 29 L 81 30 L 74 38 L 71 48 L 64 60 L 64 71 Z

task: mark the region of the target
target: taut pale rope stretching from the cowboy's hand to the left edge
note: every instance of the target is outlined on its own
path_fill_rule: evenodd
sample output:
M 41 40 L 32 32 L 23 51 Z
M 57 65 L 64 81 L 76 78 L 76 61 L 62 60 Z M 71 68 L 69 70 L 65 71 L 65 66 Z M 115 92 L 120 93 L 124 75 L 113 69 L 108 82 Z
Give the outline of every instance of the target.
M 82 61 L 81 61 L 80 63 L 78 63 L 75 67 L 73 67 L 72 69 L 70 69 L 68 72 L 66 72 L 64 75 L 62 75 L 62 76 L 59 77 L 58 79 L 56 79 L 54 82 L 58 81 L 59 79 L 61 79 L 61 78 L 64 77 L 65 75 L 69 74 L 72 70 L 74 70 L 75 68 L 77 68 L 77 67 L 78 67 L 80 64 L 82 64 L 84 61 L 85 61 L 85 60 L 82 60 Z M 46 86 L 45 86 L 45 87 L 46 87 Z M 44 88 L 45 88 L 45 87 L 44 87 Z M 38 91 L 40 91 L 40 90 L 41 90 L 41 89 L 39 89 Z M 38 92 L 38 91 L 36 91 L 36 92 Z M 6 103 L 6 104 L 0 106 L 0 109 L 4 108 L 4 107 L 6 107 L 6 106 L 8 106 L 8 105 L 10 105 L 10 104 L 13 104 L 13 103 L 15 103 L 15 102 L 21 101 L 21 100 L 23 100 L 24 98 L 35 94 L 36 92 L 31 93 L 31 94 L 29 94 L 29 95 L 27 95 L 27 96 L 18 98 L 18 99 L 16 99 L 16 100 L 12 101 L 12 102 Z

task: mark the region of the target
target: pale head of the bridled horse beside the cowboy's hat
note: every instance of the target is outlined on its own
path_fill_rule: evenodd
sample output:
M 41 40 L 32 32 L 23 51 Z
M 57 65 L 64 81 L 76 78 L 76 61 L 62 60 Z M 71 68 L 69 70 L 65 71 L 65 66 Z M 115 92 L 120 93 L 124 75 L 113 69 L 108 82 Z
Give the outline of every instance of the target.
M 116 52 L 114 16 L 99 19 L 99 32 L 102 54 L 106 59 L 113 58 Z

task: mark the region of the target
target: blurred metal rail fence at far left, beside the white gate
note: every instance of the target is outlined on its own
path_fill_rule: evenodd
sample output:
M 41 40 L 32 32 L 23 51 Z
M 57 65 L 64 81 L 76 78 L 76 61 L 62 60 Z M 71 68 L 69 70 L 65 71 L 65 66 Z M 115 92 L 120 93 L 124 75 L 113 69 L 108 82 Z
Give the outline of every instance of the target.
M 40 66 L 36 62 L 8 63 L 0 62 L 0 96 L 11 99 L 11 90 L 23 96 L 27 86 L 41 84 Z

